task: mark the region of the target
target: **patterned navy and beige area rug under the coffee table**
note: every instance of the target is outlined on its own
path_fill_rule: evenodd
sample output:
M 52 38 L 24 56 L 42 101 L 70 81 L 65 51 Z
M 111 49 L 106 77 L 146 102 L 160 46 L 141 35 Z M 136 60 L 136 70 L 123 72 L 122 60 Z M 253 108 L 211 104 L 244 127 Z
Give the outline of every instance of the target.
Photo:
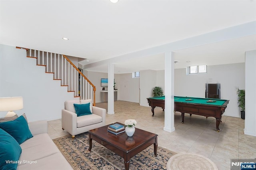
M 92 140 L 92 150 L 88 151 L 88 132 L 53 139 L 74 170 L 123 170 L 124 159 Z M 154 145 L 146 148 L 130 159 L 130 170 L 166 170 L 166 164 L 174 152 L 158 146 L 154 156 Z

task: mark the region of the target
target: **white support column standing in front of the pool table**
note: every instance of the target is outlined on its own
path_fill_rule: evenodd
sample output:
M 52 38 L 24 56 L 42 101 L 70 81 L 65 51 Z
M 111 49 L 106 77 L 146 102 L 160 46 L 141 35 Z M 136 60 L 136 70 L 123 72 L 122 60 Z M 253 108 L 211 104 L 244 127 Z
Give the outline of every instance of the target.
M 164 53 L 164 130 L 173 132 L 174 128 L 174 56 L 172 52 Z

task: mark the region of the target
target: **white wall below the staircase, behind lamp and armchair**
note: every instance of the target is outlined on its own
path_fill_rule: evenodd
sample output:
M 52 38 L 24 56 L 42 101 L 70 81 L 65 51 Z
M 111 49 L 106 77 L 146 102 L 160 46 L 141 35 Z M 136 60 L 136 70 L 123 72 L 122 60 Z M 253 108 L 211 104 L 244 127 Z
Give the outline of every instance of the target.
M 74 93 L 53 80 L 45 67 L 36 66 L 36 59 L 26 57 L 24 49 L 0 44 L 0 97 L 22 96 L 28 121 L 61 119 L 64 101 L 75 100 Z M 77 99 L 77 98 L 76 98 Z M 4 117 L 7 112 L 0 112 Z

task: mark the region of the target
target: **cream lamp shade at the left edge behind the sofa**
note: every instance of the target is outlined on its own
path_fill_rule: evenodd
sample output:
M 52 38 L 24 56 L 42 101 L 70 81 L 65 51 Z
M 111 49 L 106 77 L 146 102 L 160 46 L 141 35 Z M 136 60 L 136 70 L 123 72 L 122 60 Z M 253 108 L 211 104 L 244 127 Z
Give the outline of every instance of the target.
M 23 109 L 22 97 L 2 97 L 0 98 L 0 111 L 16 111 Z

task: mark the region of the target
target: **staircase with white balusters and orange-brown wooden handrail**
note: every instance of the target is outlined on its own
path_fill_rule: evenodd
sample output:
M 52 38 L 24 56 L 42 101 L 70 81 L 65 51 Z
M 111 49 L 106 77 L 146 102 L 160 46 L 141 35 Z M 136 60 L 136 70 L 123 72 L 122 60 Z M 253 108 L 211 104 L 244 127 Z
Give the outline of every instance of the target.
M 54 80 L 60 80 L 61 86 L 67 86 L 68 92 L 74 92 L 74 97 L 81 100 L 92 99 L 95 106 L 96 87 L 83 75 L 83 73 L 68 59 L 66 55 L 26 49 L 27 57 L 35 58 L 36 65 L 44 66 L 46 73 L 53 74 Z

